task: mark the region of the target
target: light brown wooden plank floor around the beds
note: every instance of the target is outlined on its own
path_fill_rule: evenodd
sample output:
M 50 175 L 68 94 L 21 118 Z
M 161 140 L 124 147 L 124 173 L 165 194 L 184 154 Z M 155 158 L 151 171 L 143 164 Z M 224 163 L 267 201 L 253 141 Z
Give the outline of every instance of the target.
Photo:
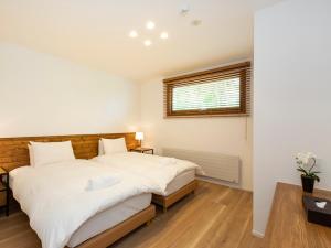
M 110 248 L 261 248 L 250 234 L 252 193 L 201 182 L 189 195 Z M 19 212 L 0 218 L 1 248 L 40 248 L 40 241 Z

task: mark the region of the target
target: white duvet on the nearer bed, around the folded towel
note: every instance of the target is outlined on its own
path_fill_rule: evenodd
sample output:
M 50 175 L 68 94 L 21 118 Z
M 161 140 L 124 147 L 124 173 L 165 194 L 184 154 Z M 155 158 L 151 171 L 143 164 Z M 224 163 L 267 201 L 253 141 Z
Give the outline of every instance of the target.
M 118 182 L 86 191 L 95 176 L 116 176 Z M 76 160 L 40 168 L 22 166 L 10 172 L 14 198 L 30 218 L 43 248 L 63 248 L 89 217 L 128 197 L 153 192 L 151 184 L 134 174 Z

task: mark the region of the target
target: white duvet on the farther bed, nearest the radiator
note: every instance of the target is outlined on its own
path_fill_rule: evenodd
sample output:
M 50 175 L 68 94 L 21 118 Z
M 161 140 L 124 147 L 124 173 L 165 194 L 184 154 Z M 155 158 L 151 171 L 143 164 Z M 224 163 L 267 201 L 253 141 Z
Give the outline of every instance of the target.
M 157 188 L 153 193 L 161 195 L 166 195 L 168 184 L 185 171 L 195 170 L 196 174 L 204 174 L 197 164 L 186 160 L 137 152 L 99 155 L 93 161 L 145 177 L 152 183 L 153 188 Z

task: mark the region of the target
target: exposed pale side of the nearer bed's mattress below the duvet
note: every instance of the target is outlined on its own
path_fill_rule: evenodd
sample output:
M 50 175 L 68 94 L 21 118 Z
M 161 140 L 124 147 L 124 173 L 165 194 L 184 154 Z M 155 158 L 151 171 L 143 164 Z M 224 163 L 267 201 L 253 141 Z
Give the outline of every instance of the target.
M 71 237 L 67 246 L 75 247 L 85 240 L 107 230 L 147 208 L 151 203 L 151 194 L 132 196 L 122 203 L 109 207 L 87 219 Z

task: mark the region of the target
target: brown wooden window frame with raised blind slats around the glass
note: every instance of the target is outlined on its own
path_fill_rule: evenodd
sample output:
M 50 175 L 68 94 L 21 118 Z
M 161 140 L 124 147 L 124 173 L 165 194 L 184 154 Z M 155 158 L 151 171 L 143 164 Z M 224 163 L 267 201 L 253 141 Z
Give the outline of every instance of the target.
M 206 116 L 247 116 L 249 109 L 249 78 L 250 62 L 244 62 L 229 66 L 218 67 L 214 69 L 192 73 L 183 76 L 163 79 L 163 97 L 164 97 L 164 117 L 206 117 Z M 241 77 L 239 107 L 233 108 L 213 108 L 205 110 L 172 110 L 173 88 L 179 85 L 194 85 L 212 82 L 222 78 Z M 248 90 L 247 90 L 248 89 Z

